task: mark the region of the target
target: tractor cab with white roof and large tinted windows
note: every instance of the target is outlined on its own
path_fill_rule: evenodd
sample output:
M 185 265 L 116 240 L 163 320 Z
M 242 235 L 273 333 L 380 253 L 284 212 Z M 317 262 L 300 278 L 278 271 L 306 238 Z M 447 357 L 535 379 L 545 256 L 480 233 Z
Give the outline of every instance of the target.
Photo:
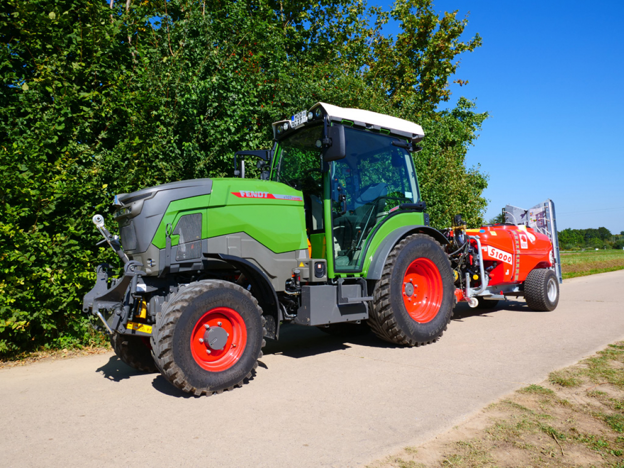
M 270 179 L 303 192 L 311 257 L 327 258 L 337 274 L 362 271 L 383 220 L 421 202 L 411 152 L 420 149 L 422 128 L 318 103 L 273 132 Z

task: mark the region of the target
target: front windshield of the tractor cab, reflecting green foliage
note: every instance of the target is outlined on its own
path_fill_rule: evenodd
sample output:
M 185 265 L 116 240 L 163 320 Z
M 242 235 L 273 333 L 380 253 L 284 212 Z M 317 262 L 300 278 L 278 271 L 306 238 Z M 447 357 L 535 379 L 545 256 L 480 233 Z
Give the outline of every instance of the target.
M 271 180 L 303 190 L 319 178 L 323 125 L 307 127 L 281 140 Z

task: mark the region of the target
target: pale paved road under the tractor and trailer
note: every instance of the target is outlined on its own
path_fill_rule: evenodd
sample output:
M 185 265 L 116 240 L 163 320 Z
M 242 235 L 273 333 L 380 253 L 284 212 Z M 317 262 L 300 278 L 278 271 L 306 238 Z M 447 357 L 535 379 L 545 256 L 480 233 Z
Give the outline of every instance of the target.
M 459 307 L 423 348 L 284 328 L 212 397 L 112 354 L 0 369 L 0 467 L 363 467 L 624 339 L 623 290 L 617 271 L 566 281 L 551 313 Z

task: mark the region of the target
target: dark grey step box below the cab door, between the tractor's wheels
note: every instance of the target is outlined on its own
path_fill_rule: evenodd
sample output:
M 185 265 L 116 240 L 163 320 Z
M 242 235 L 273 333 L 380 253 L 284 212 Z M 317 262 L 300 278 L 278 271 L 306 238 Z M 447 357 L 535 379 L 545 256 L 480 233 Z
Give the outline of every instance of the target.
M 349 294 L 359 294 L 358 285 L 345 285 L 343 288 L 352 288 Z M 316 326 L 366 319 L 366 303 L 338 305 L 337 286 L 301 286 L 301 307 L 297 311 L 295 323 Z

